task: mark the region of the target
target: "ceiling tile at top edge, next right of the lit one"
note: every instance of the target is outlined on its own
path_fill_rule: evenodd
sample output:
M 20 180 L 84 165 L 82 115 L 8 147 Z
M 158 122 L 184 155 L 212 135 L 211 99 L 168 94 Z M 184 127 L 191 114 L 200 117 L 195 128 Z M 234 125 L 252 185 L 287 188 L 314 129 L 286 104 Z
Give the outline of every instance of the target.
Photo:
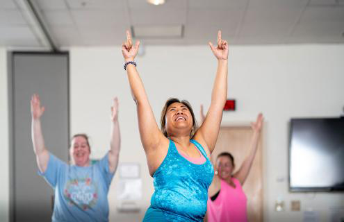
M 189 0 L 188 8 L 190 9 L 231 9 L 236 8 L 243 10 L 247 5 L 248 0 Z

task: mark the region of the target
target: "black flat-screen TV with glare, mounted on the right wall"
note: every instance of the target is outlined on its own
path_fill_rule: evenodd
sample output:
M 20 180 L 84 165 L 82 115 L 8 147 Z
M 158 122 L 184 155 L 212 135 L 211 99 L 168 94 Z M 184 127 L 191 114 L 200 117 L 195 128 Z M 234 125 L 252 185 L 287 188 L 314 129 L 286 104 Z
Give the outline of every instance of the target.
M 291 119 L 290 191 L 344 191 L 344 118 Z

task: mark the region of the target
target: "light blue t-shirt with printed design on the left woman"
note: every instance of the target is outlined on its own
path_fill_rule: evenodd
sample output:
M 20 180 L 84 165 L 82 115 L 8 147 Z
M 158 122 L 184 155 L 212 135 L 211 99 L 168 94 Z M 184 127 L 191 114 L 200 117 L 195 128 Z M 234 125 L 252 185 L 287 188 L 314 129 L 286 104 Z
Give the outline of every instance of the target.
M 90 167 L 78 167 L 49 153 L 47 170 L 40 175 L 55 189 L 52 221 L 108 221 L 108 188 L 114 175 L 108 154 Z

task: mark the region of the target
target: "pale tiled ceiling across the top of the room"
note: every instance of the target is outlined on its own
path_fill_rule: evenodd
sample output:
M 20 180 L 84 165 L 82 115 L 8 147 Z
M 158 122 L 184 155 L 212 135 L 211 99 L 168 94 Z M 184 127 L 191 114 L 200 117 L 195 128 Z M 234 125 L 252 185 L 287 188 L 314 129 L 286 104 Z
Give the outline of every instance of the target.
M 0 46 L 44 48 L 26 0 L 0 0 Z M 218 29 L 230 44 L 343 44 L 344 0 L 31 0 L 58 47 L 122 44 L 131 27 L 182 26 L 145 44 L 206 44 Z M 40 34 L 41 33 L 41 34 Z

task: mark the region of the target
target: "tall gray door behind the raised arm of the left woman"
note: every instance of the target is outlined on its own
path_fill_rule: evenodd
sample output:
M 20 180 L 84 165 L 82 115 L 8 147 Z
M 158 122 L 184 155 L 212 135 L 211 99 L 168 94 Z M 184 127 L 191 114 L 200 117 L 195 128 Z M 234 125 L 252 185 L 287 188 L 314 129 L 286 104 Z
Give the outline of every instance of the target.
M 31 142 L 30 99 L 40 94 L 45 112 L 45 146 L 68 160 L 69 100 L 67 53 L 13 53 L 11 221 L 51 221 L 54 189 L 38 176 Z

